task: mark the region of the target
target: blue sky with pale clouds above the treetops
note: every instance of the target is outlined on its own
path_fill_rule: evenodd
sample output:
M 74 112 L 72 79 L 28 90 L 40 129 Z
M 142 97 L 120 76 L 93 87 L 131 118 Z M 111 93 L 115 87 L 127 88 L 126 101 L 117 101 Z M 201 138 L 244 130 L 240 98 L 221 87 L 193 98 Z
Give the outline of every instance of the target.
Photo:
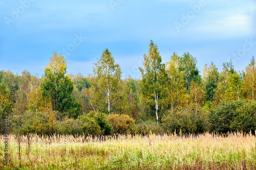
M 256 57 L 252 0 L 1 0 L 0 9 L 0 70 L 14 74 L 41 76 L 58 52 L 68 74 L 87 76 L 109 48 L 123 78 L 140 78 L 151 39 L 164 63 L 173 52 L 189 52 L 200 71 L 210 62 L 221 70 L 230 59 L 242 70 Z

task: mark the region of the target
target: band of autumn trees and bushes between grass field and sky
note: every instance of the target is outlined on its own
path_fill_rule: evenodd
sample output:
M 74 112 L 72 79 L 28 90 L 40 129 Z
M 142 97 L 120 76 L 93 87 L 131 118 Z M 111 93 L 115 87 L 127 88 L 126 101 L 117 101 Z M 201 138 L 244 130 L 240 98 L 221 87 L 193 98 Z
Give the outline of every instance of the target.
M 162 63 L 150 42 L 139 68 L 141 79 L 121 79 L 121 67 L 105 49 L 93 75 L 67 74 L 61 54 L 53 53 L 40 78 L 24 70 L 0 71 L 1 119 L 8 114 L 11 133 L 91 134 L 203 133 L 255 131 L 255 61 L 245 71 L 232 62 L 222 70 L 175 52 Z M 1 131 L 3 133 L 3 121 Z

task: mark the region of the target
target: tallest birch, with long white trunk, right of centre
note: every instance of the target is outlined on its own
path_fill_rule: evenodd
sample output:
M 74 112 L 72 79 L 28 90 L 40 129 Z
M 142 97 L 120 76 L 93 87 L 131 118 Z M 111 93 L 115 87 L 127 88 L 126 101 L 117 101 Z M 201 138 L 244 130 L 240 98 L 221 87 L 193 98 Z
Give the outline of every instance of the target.
M 165 78 L 165 65 L 162 64 L 162 58 L 158 52 L 157 45 L 151 40 L 148 54 L 144 55 L 144 69 L 141 71 L 142 81 L 140 83 L 140 92 L 143 98 L 150 106 L 155 107 L 156 120 L 159 122 L 159 106 L 163 101 L 163 89 Z

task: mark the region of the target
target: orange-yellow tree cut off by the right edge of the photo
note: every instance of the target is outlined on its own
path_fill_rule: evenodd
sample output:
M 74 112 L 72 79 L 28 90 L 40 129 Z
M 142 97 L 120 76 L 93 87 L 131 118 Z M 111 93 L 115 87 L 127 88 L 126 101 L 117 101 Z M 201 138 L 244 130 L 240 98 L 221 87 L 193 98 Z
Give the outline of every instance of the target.
M 244 92 L 246 99 L 255 99 L 255 89 L 256 89 L 256 65 L 254 56 L 251 58 L 250 64 L 246 67 L 246 75 L 244 80 Z

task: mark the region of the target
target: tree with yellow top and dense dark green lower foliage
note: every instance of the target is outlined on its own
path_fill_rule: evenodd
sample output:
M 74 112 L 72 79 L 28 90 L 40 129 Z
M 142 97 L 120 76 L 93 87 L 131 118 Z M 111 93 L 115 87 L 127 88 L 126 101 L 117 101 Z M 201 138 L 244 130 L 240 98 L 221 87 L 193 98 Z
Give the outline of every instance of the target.
M 45 95 L 51 96 L 54 111 L 69 113 L 69 117 L 77 117 L 80 107 L 71 95 L 74 86 L 66 73 L 67 64 L 64 57 L 53 53 L 49 65 L 45 68 L 45 79 L 41 87 Z

